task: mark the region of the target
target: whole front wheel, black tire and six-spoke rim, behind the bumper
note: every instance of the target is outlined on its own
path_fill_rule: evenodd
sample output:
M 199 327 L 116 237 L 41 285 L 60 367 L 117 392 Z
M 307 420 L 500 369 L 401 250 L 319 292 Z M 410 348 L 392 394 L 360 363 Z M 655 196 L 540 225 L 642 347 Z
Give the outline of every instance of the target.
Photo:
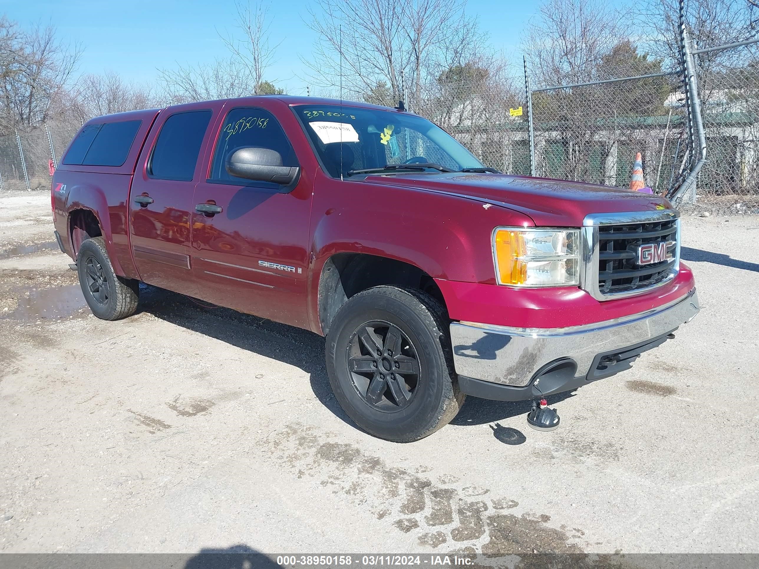
M 332 320 L 326 363 L 348 417 L 371 435 L 412 442 L 456 416 L 448 315 L 429 294 L 382 286 L 351 297 Z

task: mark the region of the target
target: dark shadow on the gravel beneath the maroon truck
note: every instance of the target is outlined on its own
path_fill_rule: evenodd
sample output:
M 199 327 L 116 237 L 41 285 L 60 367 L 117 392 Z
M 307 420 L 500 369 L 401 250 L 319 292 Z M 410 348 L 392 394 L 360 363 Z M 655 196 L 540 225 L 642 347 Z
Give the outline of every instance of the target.
M 264 357 L 298 366 L 310 376 L 310 386 L 319 401 L 336 417 L 351 426 L 356 424 L 345 414 L 332 395 L 324 364 L 324 338 L 320 335 L 239 313 L 228 308 L 201 303 L 182 294 L 143 286 L 138 313 L 150 313 L 165 322 L 216 338 Z M 254 371 L 251 373 L 255 374 Z M 569 393 L 553 395 L 550 404 L 571 397 Z M 452 425 L 483 425 L 528 413 L 530 401 L 488 401 L 470 397 L 452 421 Z

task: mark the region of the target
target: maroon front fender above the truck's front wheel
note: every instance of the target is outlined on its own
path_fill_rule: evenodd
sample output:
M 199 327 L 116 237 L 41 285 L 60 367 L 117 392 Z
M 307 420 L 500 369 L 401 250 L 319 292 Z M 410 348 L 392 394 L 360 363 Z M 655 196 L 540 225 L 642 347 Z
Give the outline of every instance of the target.
M 361 182 L 325 184 L 314 191 L 312 209 L 312 329 L 319 329 L 320 275 L 337 253 L 389 257 L 436 279 L 494 285 L 493 228 L 534 225 L 527 215 L 459 196 Z

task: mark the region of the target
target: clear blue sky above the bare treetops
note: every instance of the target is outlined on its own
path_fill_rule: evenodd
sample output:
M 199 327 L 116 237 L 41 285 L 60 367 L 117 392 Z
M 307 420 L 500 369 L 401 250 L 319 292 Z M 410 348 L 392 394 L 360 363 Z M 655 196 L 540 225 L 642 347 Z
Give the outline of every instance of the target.
M 269 4 L 272 41 L 283 39 L 276 64 L 267 72 L 288 93 L 304 93 L 305 75 L 299 55 L 307 56 L 313 33 L 305 26 L 306 2 L 279 0 Z M 493 46 L 505 52 L 518 47 L 522 28 L 537 10 L 535 2 L 469 0 L 468 12 L 490 33 Z M 117 71 L 129 80 L 152 82 L 156 68 L 175 61 L 211 61 L 227 54 L 216 30 L 232 30 L 234 0 L 0 0 L 0 11 L 27 26 L 51 20 L 61 38 L 84 47 L 80 73 Z

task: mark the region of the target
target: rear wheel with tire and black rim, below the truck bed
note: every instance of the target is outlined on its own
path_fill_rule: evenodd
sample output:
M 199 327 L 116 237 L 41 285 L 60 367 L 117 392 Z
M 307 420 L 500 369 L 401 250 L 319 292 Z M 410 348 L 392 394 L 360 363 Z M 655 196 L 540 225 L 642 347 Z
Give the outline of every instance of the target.
M 84 300 L 103 320 L 119 320 L 137 310 L 140 282 L 116 275 L 102 237 L 83 241 L 77 253 L 77 272 Z

